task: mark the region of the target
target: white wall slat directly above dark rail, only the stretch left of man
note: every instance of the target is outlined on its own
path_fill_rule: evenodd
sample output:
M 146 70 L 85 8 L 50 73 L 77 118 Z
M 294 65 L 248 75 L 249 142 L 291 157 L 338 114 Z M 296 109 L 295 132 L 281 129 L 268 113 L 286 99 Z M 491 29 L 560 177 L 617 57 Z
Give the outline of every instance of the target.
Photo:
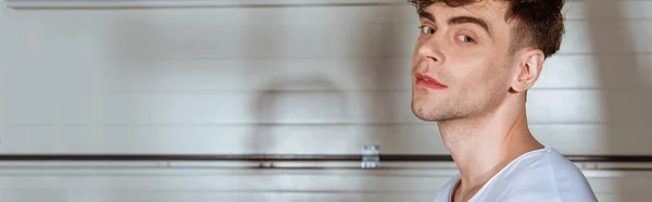
M 12 153 L 448 153 L 436 125 L 7 127 Z

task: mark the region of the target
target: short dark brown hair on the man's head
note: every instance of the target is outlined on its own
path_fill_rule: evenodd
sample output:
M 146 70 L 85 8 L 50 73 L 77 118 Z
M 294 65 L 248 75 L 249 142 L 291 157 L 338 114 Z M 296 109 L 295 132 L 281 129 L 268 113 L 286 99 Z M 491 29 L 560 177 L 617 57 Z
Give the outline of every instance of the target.
M 417 11 L 434 3 L 456 8 L 487 0 L 408 0 Z M 488 0 L 507 3 L 505 21 L 516 21 L 510 52 L 532 47 L 543 51 L 549 58 L 560 50 L 564 35 L 564 0 Z

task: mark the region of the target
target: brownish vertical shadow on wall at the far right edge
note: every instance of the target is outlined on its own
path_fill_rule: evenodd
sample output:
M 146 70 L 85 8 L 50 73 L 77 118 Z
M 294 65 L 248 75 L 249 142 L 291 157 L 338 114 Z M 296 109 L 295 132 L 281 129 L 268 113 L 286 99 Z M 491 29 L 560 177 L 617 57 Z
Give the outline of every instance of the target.
M 602 90 L 600 93 L 605 112 L 604 122 L 607 123 L 607 131 L 604 134 L 607 135 L 609 148 L 605 151 L 610 154 L 650 155 L 652 150 L 648 144 L 652 138 L 648 136 L 652 129 L 652 93 L 649 89 L 652 78 L 649 77 L 649 71 L 652 64 L 648 49 L 647 52 L 637 50 L 632 38 L 639 34 L 631 30 L 640 30 L 641 26 L 650 26 L 652 23 L 649 20 L 625 20 L 623 5 L 629 2 L 632 1 L 586 1 L 589 41 L 593 47 L 592 52 L 597 53 L 593 60 Z M 649 41 L 640 43 L 650 46 Z M 617 194 L 614 201 L 644 201 L 640 197 L 652 191 L 628 175 L 614 180 L 614 191 Z

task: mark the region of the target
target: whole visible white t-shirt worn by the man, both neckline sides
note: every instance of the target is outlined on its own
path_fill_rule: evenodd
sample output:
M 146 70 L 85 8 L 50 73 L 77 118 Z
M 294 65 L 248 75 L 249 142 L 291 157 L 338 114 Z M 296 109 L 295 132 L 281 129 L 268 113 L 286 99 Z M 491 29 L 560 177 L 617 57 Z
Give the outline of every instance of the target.
M 435 202 L 450 202 L 457 174 Z M 469 202 L 597 202 L 586 177 L 554 149 L 527 152 L 496 174 Z

